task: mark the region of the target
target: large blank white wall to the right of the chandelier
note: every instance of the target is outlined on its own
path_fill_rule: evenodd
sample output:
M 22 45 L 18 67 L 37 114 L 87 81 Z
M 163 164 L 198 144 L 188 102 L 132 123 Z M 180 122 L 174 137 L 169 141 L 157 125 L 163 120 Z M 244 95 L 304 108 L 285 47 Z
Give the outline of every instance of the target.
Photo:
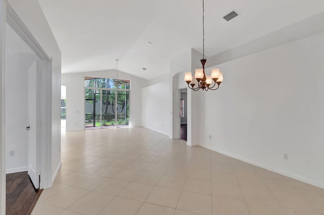
M 201 145 L 324 188 L 324 33 L 218 67 Z

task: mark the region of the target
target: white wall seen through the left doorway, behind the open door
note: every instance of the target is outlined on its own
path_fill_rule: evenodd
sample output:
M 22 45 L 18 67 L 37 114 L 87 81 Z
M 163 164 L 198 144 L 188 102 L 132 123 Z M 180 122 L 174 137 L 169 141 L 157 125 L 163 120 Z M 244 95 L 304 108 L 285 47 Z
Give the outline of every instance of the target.
M 28 169 L 28 69 L 37 56 L 6 48 L 6 173 Z M 36 67 L 33 68 L 36 70 Z M 14 150 L 14 156 L 9 151 Z

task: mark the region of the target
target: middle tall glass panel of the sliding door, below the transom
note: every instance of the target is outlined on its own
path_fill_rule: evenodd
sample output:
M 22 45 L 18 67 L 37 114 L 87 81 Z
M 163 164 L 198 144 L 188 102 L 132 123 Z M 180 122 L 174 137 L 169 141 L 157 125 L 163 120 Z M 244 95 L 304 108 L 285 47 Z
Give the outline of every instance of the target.
M 115 90 L 102 90 L 101 126 L 111 127 L 116 125 L 116 92 Z

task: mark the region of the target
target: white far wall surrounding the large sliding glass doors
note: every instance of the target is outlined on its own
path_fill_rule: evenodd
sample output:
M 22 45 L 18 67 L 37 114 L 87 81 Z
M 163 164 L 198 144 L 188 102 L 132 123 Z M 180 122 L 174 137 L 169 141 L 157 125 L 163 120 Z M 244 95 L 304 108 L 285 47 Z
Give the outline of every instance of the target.
M 66 86 L 66 131 L 85 129 L 85 76 L 115 78 L 116 71 L 93 71 L 62 75 L 62 85 Z M 130 125 L 142 125 L 142 88 L 148 81 L 118 71 L 118 79 L 131 80 Z

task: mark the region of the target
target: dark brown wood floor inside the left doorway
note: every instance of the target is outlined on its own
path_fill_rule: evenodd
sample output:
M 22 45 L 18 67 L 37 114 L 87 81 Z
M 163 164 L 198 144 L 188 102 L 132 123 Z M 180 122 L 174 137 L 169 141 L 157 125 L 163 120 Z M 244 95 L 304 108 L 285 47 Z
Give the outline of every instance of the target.
M 35 191 L 27 172 L 7 174 L 6 214 L 30 214 L 43 190 Z

